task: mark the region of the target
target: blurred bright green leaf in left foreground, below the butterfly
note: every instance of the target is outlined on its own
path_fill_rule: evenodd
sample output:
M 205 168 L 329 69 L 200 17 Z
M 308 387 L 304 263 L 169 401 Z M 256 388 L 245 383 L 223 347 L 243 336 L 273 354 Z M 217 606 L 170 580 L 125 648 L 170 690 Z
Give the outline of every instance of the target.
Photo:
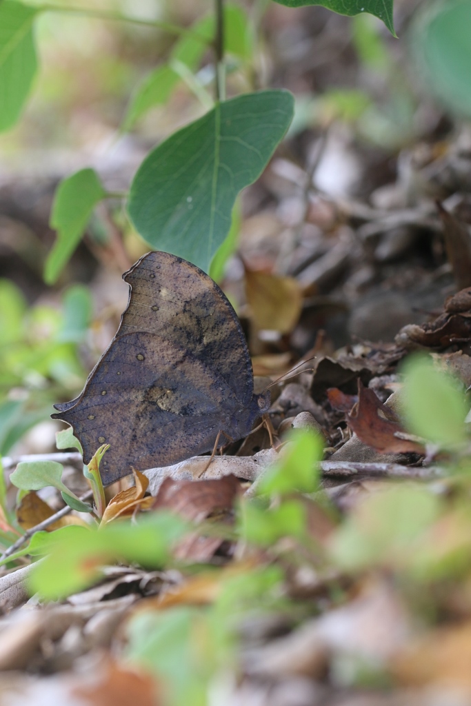
M 59 535 L 65 529 L 75 531 Z M 107 562 L 136 562 L 162 568 L 172 546 L 183 537 L 188 526 L 176 515 L 160 512 L 144 517 L 136 525 L 123 521 L 110 522 L 100 530 L 94 527 L 64 527 L 64 530 L 52 532 L 55 541 L 49 556 L 37 563 L 30 575 L 30 590 L 39 592 L 44 599 L 59 599 L 92 585 Z

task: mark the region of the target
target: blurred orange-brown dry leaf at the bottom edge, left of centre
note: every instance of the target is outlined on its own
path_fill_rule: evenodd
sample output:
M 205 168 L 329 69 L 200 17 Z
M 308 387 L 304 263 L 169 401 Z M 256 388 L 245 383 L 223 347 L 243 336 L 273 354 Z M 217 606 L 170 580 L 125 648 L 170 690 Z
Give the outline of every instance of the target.
M 93 686 L 78 686 L 71 695 L 90 706 L 158 706 L 157 685 L 150 674 L 110 662 L 102 680 Z

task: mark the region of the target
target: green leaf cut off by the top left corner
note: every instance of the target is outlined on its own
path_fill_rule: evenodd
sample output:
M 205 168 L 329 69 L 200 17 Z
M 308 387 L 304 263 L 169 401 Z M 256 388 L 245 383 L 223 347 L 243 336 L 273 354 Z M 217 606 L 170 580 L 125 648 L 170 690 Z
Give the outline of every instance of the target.
M 13 0 L 0 3 L 0 131 L 18 120 L 35 78 L 32 23 L 38 11 Z

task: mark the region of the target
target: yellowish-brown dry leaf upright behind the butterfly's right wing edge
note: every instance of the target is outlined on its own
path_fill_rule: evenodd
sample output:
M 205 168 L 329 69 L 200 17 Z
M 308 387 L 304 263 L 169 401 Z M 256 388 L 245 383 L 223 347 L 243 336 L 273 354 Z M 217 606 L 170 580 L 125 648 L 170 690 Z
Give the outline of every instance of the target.
M 280 333 L 293 330 L 302 310 L 302 292 L 297 280 L 246 270 L 245 291 L 258 329 Z

